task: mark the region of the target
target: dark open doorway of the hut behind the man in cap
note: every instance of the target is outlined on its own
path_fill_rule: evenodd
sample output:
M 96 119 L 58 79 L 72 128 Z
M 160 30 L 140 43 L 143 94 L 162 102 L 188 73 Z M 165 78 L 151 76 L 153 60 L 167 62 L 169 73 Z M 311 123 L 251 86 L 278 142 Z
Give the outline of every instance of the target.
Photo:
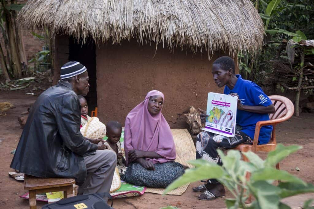
M 69 60 L 80 62 L 87 68 L 89 76 L 89 92 L 85 97 L 88 104 L 89 116 L 97 107 L 97 84 L 96 84 L 96 48 L 93 39 L 87 39 L 85 43 L 70 36 Z

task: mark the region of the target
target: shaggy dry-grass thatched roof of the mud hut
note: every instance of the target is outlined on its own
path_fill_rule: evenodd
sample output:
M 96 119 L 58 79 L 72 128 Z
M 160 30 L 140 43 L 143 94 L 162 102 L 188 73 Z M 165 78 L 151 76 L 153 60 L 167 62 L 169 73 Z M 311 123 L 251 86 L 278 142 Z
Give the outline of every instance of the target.
M 18 18 L 27 29 L 77 39 L 135 38 L 193 51 L 255 52 L 264 34 L 250 0 L 29 0 Z

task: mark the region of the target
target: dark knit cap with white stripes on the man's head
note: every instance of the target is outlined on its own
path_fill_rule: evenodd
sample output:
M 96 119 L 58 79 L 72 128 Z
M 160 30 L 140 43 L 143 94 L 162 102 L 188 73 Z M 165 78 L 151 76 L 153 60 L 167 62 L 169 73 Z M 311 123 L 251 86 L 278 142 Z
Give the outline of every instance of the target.
M 86 67 L 77 61 L 69 61 L 61 67 L 60 78 L 66 79 L 82 74 L 86 71 Z

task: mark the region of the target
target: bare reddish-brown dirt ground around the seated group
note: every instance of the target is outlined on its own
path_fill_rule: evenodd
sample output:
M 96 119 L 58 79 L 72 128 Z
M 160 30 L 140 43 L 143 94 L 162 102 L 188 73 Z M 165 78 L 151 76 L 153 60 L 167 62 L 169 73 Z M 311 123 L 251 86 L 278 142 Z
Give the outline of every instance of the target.
M 10 152 L 16 148 L 22 133 L 22 128 L 19 126 L 17 117 L 21 112 L 26 111 L 35 102 L 35 99 L 36 95 L 26 95 L 23 90 L 0 91 L 0 102 L 10 102 L 15 106 L 14 109 L 10 109 L 7 112 L 7 116 L 0 116 L 0 208 L 29 208 L 28 200 L 19 197 L 19 195 L 26 192 L 24 191 L 23 183 L 8 177 L 8 172 L 13 171 L 9 167 L 13 158 L 13 154 L 10 154 Z M 302 150 L 282 161 L 280 169 L 286 170 L 312 184 L 314 184 L 313 116 L 314 114 L 311 113 L 301 113 L 300 117 L 292 117 L 277 128 L 277 140 L 279 143 L 283 143 L 284 145 L 299 144 L 303 146 Z M 263 157 L 266 156 L 263 153 L 260 153 L 260 155 Z M 300 168 L 300 171 L 295 170 L 296 166 Z M 215 201 L 199 201 L 197 199 L 198 193 L 192 192 L 192 186 L 195 185 L 198 185 L 198 182 L 192 183 L 181 196 L 161 196 L 145 193 L 143 196 L 116 199 L 113 204 L 115 208 L 160 208 L 167 205 L 178 206 L 179 208 L 225 207 L 225 198 Z M 232 197 L 230 192 L 227 192 L 228 197 Z M 307 194 L 303 197 L 295 197 L 294 199 L 290 199 L 290 203 L 294 207 L 301 206 L 302 201 L 310 197 L 313 198 L 314 195 Z M 37 201 L 37 206 L 43 206 L 44 204 Z

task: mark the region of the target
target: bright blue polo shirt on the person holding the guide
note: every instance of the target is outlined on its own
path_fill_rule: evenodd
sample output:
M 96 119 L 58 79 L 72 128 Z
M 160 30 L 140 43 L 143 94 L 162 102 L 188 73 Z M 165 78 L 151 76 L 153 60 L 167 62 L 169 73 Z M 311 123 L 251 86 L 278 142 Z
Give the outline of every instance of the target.
M 238 80 L 235 87 L 230 89 L 225 86 L 224 94 L 237 93 L 239 99 L 243 105 L 258 106 L 263 105 L 265 107 L 273 104 L 272 101 L 263 92 L 261 87 L 256 83 L 241 78 L 241 75 L 236 75 Z M 254 138 L 255 125 L 258 121 L 269 120 L 268 114 L 259 114 L 254 112 L 247 112 L 244 110 L 237 110 L 236 123 L 242 127 L 244 133 L 251 138 Z M 262 126 L 258 144 L 267 144 L 272 133 L 273 126 Z

